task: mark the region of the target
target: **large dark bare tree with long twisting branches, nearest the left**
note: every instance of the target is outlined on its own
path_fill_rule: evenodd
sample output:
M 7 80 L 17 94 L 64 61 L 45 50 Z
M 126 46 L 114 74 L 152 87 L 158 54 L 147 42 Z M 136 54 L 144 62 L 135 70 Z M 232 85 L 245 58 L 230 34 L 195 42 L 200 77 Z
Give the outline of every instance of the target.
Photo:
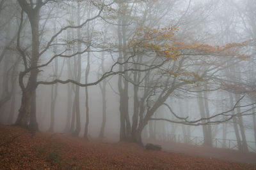
M 22 127 L 29 127 L 31 129 L 38 129 L 38 125 L 36 122 L 36 87 L 38 86 L 38 84 L 54 84 L 54 83 L 68 83 L 70 80 L 67 81 L 59 81 L 58 78 L 56 78 L 56 81 L 52 81 L 50 82 L 45 82 L 45 81 L 37 81 L 37 77 L 38 77 L 38 72 L 39 72 L 39 68 L 47 66 L 49 63 L 52 62 L 52 60 L 54 60 L 56 57 L 74 57 L 76 55 L 80 55 L 81 53 L 87 52 L 88 51 L 88 47 L 85 50 L 82 51 L 77 51 L 75 53 L 72 53 L 71 55 L 64 55 L 65 52 L 68 51 L 68 49 L 64 49 L 62 52 L 54 55 L 48 62 L 46 62 L 45 64 L 41 64 L 38 65 L 38 61 L 39 58 L 45 53 L 47 52 L 47 50 L 51 49 L 52 46 L 54 46 L 54 39 L 56 39 L 58 36 L 60 36 L 60 34 L 64 31 L 66 31 L 67 29 L 79 29 L 81 27 L 83 27 L 84 25 L 88 24 L 88 22 L 90 22 L 91 20 L 94 20 L 95 18 L 99 18 L 100 17 L 100 13 L 102 13 L 102 11 L 104 10 L 104 7 L 109 6 L 110 4 L 103 4 L 100 3 L 93 3 L 93 2 L 89 2 L 92 3 L 95 6 L 99 7 L 99 12 L 93 16 L 92 18 L 87 18 L 83 23 L 78 24 L 76 26 L 74 25 L 67 25 L 65 27 L 62 27 L 59 31 L 56 32 L 56 34 L 52 35 L 52 37 L 49 39 L 49 41 L 47 42 L 47 45 L 44 46 L 44 48 L 42 48 L 40 46 L 40 30 L 39 30 L 39 23 L 40 23 L 40 10 L 42 7 L 47 6 L 47 3 L 51 2 L 51 1 L 33 1 L 33 3 L 28 3 L 25 0 L 19 0 L 18 1 L 20 4 L 20 7 L 22 8 L 22 14 L 23 11 L 26 13 L 26 15 L 28 15 L 29 18 L 29 23 L 31 25 L 31 35 L 32 35 L 32 39 L 31 39 L 31 43 L 32 44 L 32 49 L 31 49 L 31 59 L 28 58 L 28 56 L 26 55 L 26 53 L 24 52 L 24 50 L 22 50 L 22 48 L 20 48 L 20 34 L 18 36 L 18 40 L 17 40 L 17 49 L 20 52 L 20 55 L 22 55 L 22 60 L 24 63 L 24 71 L 20 72 L 19 75 L 19 85 L 20 88 L 22 90 L 22 101 L 21 101 L 21 106 L 20 106 L 20 110 L 19 110 L 19 117 L 17 118 L 17 121 L 15 122 L 15 124 L 20 125 Z M 23 17 L 21 17 L 20 20 L 20 27 L 22 26 L 22 22 L 23 22 Z M 19 32 L 20 33 L 20 32 Z M 69 44 L 72 43 L 76 43 L 76 41 L 71 41 Z M 68 45 L 68 43 L 64 44 Z M 42 50 L 40 51 L 40 48 L 42 48 Z M 28 59 L 31 61 L 30 63 L 28 63 Z M 29 78 L 28 78 L 28 82 L 26 83 L 26 85 L 24 84 L 24 77 L 26 76 L 26 74 L 29 74 Z M 106 76 L 106 75 L 105 75 Z M 105 77 L 104 77 L 105 78 Z M 102 78 L 101 80 L 103 80 L 104 78 Z M 99 81 L 101 81 L 99 80 Z M 95 82 L 95 83 L 88 83 L 84 86 L 88 86 L 88 85 L 93 85 L 93 84 L 97 84 L 99 83 L 99 81 Z M 72 82 L 76 82 L 77 85 L 79 85 L 79 82 L 72 80 Z M 77 111 L 77 110 L 76 110 Z M 77 117 L 77 120 L 79 120 L 79 117 Z M 77 123 L 77 125 L 79 125 Z M 79 132 L 79 129 L 76 129 L 76 132 Z

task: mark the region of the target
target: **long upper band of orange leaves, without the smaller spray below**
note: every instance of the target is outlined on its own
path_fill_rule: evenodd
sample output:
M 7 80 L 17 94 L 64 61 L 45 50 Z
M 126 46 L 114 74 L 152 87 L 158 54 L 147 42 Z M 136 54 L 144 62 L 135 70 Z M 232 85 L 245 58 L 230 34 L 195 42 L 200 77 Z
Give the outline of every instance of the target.
M 175 32 L 179 29 L 175 26 L 167 26 L 162 29 L 151 29 L 150 27 L 138 28 L 134 38 L 130 39 L 129 46 L 137 52 L 155 52 L 157 56 L 177 60 L 182 55 L 217 55 L 238 56 L 248 59 L 248 55 L 240 53 L 241 48 L 247 46 L 244 43 L 229 43 L 224 46 L 211 46 L 204 43 L 186 43 L 175 38 Z

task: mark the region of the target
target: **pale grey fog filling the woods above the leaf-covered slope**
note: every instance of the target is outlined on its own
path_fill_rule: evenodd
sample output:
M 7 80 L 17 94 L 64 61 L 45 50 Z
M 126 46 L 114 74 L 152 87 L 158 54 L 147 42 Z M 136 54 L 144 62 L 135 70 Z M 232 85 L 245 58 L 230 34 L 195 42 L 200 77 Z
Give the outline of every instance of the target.
M 0 123 L 256 152 L 255 9 L 1 0 Z

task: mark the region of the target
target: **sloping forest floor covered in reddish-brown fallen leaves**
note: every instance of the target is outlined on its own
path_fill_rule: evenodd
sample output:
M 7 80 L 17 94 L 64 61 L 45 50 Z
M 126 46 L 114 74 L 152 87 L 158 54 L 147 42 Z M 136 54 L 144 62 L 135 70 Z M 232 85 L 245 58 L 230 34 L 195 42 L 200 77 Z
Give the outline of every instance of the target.
M 32 134 L 20 127 L 0 125 L 0 169 L 256 169 L 256 164 L 209 157 L 214 153 L 210 148 L 170 143 L 163 143 L 163 147 L 169 151 L 148 151 L 134 143 L 102 139 L 84 141 L 66 134 Z M 230 150 L 215 152 L 239 155 Z M 254 153 L 241 154 L 241 159 L 256 158 Z

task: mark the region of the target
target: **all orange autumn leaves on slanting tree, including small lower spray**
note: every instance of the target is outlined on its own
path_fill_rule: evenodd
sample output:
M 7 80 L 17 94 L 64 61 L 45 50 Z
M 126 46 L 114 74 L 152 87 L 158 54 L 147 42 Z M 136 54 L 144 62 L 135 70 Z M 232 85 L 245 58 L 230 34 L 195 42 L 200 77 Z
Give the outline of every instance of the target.
M 228 43 L 223 46 L 211 46 L 205 43 L 186 43 L 181 41 L 175 34 L 179 29 L 175 26 L 166 26 L 161 29 L 151 29 L 150 27 L 138 28 L 134 37 L 129 40 L 129 46 L 134 52 L 140 55 L 156 55 L 156 57 L 165 57 L 170 60 L 178 60 L 184 56 L 203 56 L 205 59 L 210 57 L 237 57 L 242 60 L 250 56 L 241 53 L 241 50 L 247 46 L 248 41 L 243 43 Z M 203 60 L 201 60 L 203 62 Z M 216 60 L 214 64 L 218 64 Z M 202 63 L 204 64 L 204 63 Z M 195 83 L 195 80 L 204 81 L 198 74 L 177 68 L 177 71 L 162 70 L 161 74 L 169 76 L 180 76 L 179 80 Z

